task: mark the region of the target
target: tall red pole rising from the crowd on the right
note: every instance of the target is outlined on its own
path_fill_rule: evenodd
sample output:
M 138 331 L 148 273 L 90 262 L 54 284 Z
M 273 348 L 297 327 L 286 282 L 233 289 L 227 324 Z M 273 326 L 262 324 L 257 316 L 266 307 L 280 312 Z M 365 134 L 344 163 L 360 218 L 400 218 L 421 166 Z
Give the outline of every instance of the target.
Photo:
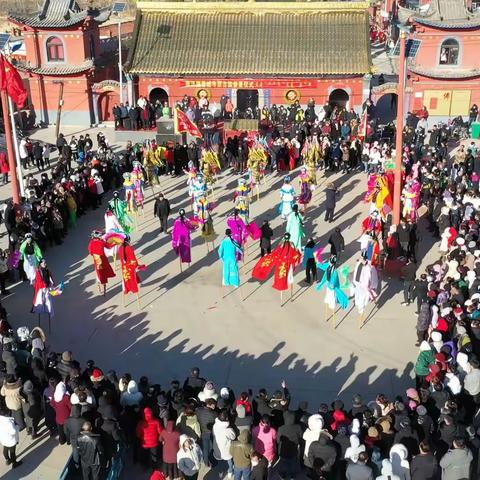
M 398 101 L 397 101 L 397 136 L 395 143 L 395 183 L 393 188 L 393 224 L 400 223 L 402 195 L 402 157 L 403 157 L 403 107 L 405 103 L 405 50 L 407 44 L 406 32 L 400 32 L 400 58 L 398 60 Z

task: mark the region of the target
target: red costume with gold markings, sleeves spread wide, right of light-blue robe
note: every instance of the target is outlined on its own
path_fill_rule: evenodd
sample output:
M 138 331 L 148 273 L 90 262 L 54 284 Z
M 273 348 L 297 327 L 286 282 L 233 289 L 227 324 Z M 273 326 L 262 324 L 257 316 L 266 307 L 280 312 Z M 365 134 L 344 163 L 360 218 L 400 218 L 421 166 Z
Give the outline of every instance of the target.
M 275 268 L 273 288 L 288 290 L 293 284 L 293 271 L 300 264 L 302 254 L 294 245 L 285 240 L 272 253 L 262 257 L 253 267 L 252 278 L 264 281 Z

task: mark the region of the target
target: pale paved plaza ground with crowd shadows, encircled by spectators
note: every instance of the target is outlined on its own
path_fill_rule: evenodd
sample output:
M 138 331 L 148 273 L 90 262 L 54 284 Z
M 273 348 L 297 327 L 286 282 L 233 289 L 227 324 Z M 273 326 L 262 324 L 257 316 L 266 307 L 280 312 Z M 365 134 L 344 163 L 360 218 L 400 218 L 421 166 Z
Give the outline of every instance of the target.
M 293 184 L 298 191 L 296 175 Z M 366 176 L 335 174 L 328 180 L 342 191 L 335 221 L 323 222 L 327 178 L 322 177 L 307 211 L 306 233 L 324 245 L 332 229 L 341 228 L 346 242 L 342 259 L 353 265 L 350 259 L 359 251 L 359 225 L 367 214 L 362 202 Z M 271 220 L 275 239 L 284 233 L 277 214 L 282 181 L 281 175 L 269 175 L 260 201 L 251 205 L 252 219 L 259 223 Z M 339 395 L 348 404 L 356 392 L 372 400 L 378 392 L 393 396 L 411 385 L 412 362 L 417 355 L 416 316 L 413 306 L 400 307 L 399 281 L 383 282 L 378 308 L 369 307 L 368 322 L 362 330 L 357 326 L 358 314 L 350 308 L 336 314 L 334 331 L 332 320 L 324 318 L 323 293 L 303 285 L 302 268 L 295 275 L 292 301 L 285 295 L 283 304 L 279 293 L 271 288 L 272 279 L 264 284 L 250 279 L 259 256 L 258 245 L 251 244 L 241 269 L 243 301 L 239 291 L 222 298 L 222 266 L 216 249 L 209 250 L 195 232 L 193 263 L 180 273 L 170 236 L 158 233 L 154 193 L 163 191 L 171 201 L 170 225 L 179 208 L 189 208 L 185 176 L 162 177 L 161 182 L 161 188 L 147 188 L 145 213 L 138 217 L 138 229 L 132 235 L 137 255 L 147 265 L 140 273 L 141 309 L 132 296 L 122 306 L 118 270 L 106 296 L 97 293 L 87 245 L 90 232 L 104 225 L 102 209 L 82 217 L 63 245 L 46 251 L 54 278 L 66 281 L 65 292 L 54 299 L 55 317 L 48 335 L 52 349 L 70 349 L 82 364 L 94 359 L 104 371 L 115 369 L 119 375 L 130 372 L 137 379 L 147 375 L 165 389 L 172 379 L 183 381 L 192 366 L 199 366 L 202 376 L 215 381 L 217 388 L 229 385 L 237 394 L 249 387 L 255 392 L 265 387 L 272 393 L 285 379 L 292 406 L 306 400 L 312 412 L 321 402 L 330 403 Z M 236 184 L 236 176 L 222 173 L 215 187 L 218 206 L 214 221 L 219 235 L 215 247 L 223 238 Z M 0 195 L 6 195 L 6 188 L 0 188 Z M 437 255 L 436 248 L 431 247 L 426 234 L 420 244 L 424 263 Z M 31 287 L 19 284 L 11 290 L 4 305 L 13 325 L 35 326 L 37 318 L 29 313 Z M 42 325 L 47 328 L 45 319 Z M 21 455 L 24 465 L 15 473 L 20 477 L 5 478 L 56 478 L 53 471 L 59 474 L 61 470 L 56 462 L 63 465 L 68 450 L 55 448 L 50 452 L 52 444 L 55 442 L 48 440 L 29 446 Z M 45 452 L 50 455 L 41 461 Z M 3 474 L 13 475 L 6 474 L 2 464 Z

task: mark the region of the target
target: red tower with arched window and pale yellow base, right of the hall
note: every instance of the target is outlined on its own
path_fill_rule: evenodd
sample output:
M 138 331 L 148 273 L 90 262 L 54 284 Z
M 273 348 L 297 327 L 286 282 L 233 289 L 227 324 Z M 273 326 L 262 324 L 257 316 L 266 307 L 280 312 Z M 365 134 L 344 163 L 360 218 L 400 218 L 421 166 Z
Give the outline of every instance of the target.
M 398 9 L 400 25 L 409 30 L 406 108 L 417 111 L 425 105 L 439 119 L 465 117 L 473 103 L 480 105 L 480 11 L 466 0 L 418 4 L 420 9 Z M 398 50 L 397 44 L 394 56 Z M 374 87 L 374 101 L 396 88 Z

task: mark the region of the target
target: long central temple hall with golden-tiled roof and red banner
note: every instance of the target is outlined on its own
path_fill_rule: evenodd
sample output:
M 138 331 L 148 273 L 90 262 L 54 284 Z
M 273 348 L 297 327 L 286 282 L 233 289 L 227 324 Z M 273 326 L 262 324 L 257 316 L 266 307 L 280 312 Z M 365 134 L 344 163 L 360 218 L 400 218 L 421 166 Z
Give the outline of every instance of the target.
M 240 110 L 313 97 L 360 110 L 370 92 L 368 7 L 139 1 L 129 91 L 170 105 L 184 95 L 211 104 L 228 95 Z

